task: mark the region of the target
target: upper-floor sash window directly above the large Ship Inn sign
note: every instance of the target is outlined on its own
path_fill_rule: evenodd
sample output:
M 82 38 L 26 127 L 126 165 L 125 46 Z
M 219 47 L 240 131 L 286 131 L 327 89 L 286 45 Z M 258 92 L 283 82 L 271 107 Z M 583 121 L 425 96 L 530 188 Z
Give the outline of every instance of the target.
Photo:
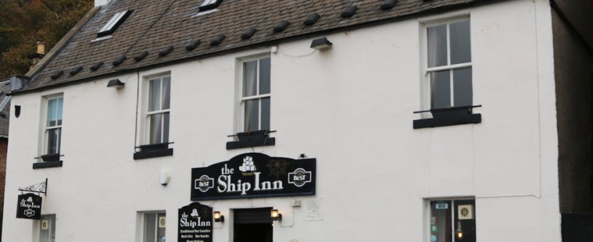
M 243 131 L 270 130 L 270 57 L 243 62 Z

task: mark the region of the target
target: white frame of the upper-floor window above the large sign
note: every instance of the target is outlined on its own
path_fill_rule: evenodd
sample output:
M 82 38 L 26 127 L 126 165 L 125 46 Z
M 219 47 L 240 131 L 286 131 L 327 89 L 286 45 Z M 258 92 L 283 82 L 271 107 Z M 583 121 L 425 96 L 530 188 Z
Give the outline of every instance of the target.
M 252 96 L 247 96 L 247 97 L 243 97 L 243 91 L 245 89 L 245 86 L 243 84 L 244 82 L 244 72 L 245 69 L 243 67 L 243 64 L 245 62 L 252 62 L 254 60 L 259 60 L 259 59 L 264 59 L 264 58 L 270 58 L 270 93 L 266 93 L 266 94 L 259 94 L 259 84 L 260 84 L 260 73 L 259 73 L 259 62 L 258 62 L 258 66 L 257 66 L 257 75 L 256 75 L 256 79 L 257 79 L 257 84 L 256 84 L 256 90 L 258 92 L 257 95 L 252 95 Z M 237 82 L 236 82 L 236 86 L 237 86 L 237 92 L 236 92 L 236 97 L 238 100 L 238 108 L 236 110 L 237 116 L 238 116 L 238 121 L 236 124 L 236 133 L 240 133 L 240 132 L 246 132 L 247 130 L 245 129 L 245 103 L 248 100 L 262 100 L 263 98 L 270 98 L 270 113 L 272 113 L 271 109 L 271 103 L 272 103 L 272 57 L 270 55 L 270 53 L 263 53 L 263 54 L 258 54 L 258 55 L 252 55 L 250 57 L 243 57 L 240 59 L 237 59 Z M 270 115 L 270 130 L 272 129 L 272 115 Z M 259 109 L 258 109 L 258 129 L 257 130 L 252 130 L 252 131 L 258 131 L 258 130 L 262 130 L 261 129 L 261 102 L 259 102 Z

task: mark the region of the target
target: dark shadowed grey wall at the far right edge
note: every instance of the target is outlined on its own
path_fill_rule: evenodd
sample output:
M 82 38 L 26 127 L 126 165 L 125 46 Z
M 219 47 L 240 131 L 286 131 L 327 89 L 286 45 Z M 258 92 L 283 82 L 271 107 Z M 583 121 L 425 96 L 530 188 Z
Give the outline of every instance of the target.
M 560 210 L 593 212 L 593 53 L 565 20 L 552 10 Z

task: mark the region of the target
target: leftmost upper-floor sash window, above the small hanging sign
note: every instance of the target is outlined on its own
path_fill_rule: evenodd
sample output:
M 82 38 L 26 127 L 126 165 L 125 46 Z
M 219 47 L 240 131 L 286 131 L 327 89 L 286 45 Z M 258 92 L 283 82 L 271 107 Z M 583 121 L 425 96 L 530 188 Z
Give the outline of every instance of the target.
M 45 125 L 45 154 L 60 152 L 62 141 L 62 110 L 64 97 L 51 97 L 47 99 L 46 125 Z

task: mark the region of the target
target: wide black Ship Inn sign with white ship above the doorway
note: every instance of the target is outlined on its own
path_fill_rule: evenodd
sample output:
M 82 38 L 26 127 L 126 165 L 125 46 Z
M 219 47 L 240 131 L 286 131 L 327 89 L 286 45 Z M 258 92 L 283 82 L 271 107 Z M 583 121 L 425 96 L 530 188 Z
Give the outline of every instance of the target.
M 315 194 L 314 158 L 294 160 L 244 153 L 191 169 L 191 200 L 308 196 Z

